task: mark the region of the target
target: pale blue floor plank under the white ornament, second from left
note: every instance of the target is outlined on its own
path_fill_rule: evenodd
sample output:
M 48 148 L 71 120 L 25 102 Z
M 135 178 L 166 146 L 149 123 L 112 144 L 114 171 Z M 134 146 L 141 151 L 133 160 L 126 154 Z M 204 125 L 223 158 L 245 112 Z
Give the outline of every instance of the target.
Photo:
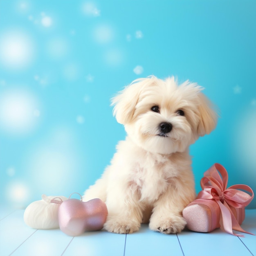
M 61 255 L 73 237 L 60 229 L 39 230 L 29 237 L 11 256 L 53 256 Z

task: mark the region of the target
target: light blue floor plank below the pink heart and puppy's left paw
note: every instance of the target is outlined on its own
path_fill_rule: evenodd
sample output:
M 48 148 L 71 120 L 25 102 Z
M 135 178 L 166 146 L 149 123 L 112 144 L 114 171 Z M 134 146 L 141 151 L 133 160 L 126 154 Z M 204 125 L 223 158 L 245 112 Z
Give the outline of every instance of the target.
M 126 235 L 107 231 L 86 232 L 76 236 L 63 256 L 122 256 Z

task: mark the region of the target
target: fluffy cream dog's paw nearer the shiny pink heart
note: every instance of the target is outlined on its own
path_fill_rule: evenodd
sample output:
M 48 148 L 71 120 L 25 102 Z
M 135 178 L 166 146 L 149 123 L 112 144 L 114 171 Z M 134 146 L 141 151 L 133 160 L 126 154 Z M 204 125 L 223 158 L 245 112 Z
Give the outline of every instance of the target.
M 135 220 L 125 220 L 124 218 L 111 217 L 104 224 L 104 229 L 117 234 L 131 234 L 138 231 L 140 223 Z

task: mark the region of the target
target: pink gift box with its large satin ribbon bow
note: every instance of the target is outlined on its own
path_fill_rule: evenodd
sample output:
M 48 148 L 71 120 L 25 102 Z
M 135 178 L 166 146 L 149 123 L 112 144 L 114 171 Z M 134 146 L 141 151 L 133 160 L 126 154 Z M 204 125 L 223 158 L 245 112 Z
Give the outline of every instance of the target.
M 233 229 L 248 233 L 240 225 L 245 219 L 245 207 L 254 198 L 254 193 L 249 186 L 244 184 L 227 188 L 227 181 L 227 171 L 220 164 L 214 164 L 204 173 L 201 180 L 203 190 L 182 211 L 188 229 L 197 232 L 211 232 L 220 227 L 236 236 L 241 235 L 234 234 Z

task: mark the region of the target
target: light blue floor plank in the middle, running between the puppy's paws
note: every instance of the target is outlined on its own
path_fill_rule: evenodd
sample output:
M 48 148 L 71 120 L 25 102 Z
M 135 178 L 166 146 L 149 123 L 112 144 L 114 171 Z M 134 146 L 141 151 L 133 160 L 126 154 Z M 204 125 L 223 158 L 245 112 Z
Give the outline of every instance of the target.
M 182 249 L 176 234 L 161 234 L 152 231 L 148 225 L 141 225 L 139 231 L 126 237 L 125 256 L 182 256 Z

